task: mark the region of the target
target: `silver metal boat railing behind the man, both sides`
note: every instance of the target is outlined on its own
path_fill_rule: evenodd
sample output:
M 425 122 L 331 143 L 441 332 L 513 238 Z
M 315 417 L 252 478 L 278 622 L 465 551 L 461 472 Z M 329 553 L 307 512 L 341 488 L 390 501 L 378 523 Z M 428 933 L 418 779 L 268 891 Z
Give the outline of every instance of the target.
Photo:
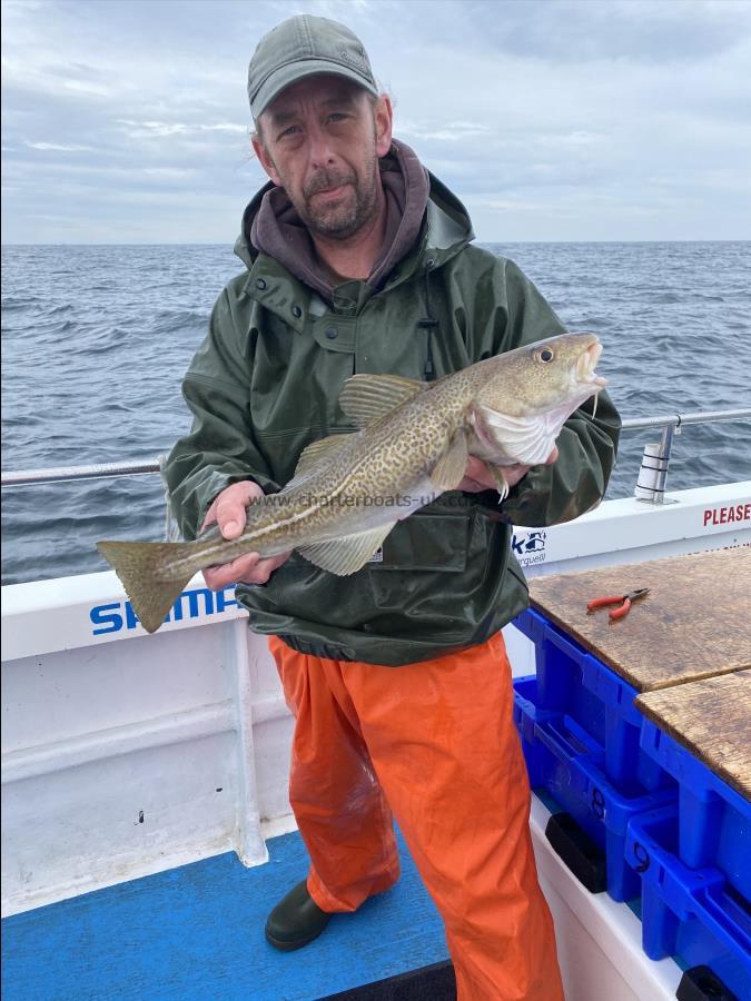
M 721 420 L 741 420 L 751 418 L 751 407 L 729 410 L 693 410 L 688 414 L 663 414 L 656 417 L 631 417 L 623 422 L 623 430 L 642 430 L 661 428 L 658 443 L 644 446 L 639 479 L 634 496 L 640 500 L 662 504 L 665 493 L 668 468 L 673 446 L 673 438 L 689 424 L 713 424 Z M 113 476 L 146 476 L 159 473 L 164 456 L 156 459 L 134 460 L 127 463 L 101 463 L 87 466 L 59 466 L 47 469 L 18 469 L 2 473 L 1 485 L 29 486 L 30 484 L 66 483 L 75 479 L 101 479 Z

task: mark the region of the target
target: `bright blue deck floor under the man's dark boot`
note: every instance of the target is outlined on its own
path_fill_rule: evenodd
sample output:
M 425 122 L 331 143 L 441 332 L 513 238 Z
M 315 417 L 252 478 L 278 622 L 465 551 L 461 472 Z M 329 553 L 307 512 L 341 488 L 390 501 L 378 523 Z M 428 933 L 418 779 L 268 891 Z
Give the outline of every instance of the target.
M 445 961 L 443 923 L 399 843 L 398 884 L 293 953 L 268 945 L 264 924 L 307 871 L 297 833 L 268 842 L 266 865 L 228 853 L 7 918 L 3 1001 L 314 1001 Z

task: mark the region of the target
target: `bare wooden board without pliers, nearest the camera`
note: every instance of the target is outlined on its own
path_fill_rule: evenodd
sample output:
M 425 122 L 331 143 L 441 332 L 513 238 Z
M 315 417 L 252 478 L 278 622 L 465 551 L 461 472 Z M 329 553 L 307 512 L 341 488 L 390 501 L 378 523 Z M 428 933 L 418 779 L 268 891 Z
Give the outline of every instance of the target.
M 751 671 L 646 692 L 635 704 L 751 800 Z

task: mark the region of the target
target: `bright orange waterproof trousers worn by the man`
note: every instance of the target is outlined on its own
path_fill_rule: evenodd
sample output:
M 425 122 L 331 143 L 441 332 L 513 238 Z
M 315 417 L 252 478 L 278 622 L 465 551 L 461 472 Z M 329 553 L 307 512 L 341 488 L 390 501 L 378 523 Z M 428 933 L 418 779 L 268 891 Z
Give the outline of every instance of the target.
M 318 906 L 354 911 L 396 882 L 393 809 L 445 922 L 460 1001 L 561 1001 L 501 634 L 404 667 L 269 647 L 297 721 L 289 799 Z

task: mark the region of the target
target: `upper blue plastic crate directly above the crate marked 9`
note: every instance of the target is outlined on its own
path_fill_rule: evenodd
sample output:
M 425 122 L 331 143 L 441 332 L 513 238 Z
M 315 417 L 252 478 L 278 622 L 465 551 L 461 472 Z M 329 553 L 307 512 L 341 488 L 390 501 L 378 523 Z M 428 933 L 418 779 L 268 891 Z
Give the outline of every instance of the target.
M 751 803 L 651 720 L 644 720 L 641 745 L 678 782 L 681 861 L 715 866 L 751 901 Z

